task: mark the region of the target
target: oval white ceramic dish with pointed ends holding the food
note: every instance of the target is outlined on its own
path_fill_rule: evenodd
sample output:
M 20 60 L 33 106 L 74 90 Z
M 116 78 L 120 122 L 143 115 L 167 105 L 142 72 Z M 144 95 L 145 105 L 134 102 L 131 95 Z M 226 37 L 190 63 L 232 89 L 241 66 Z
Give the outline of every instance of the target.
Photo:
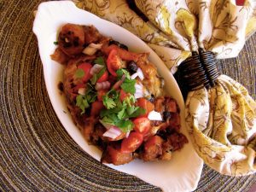
M 61 26 L 66 23 L 80 25 L 94 25 L 105 36 L 126 44 L 129 49 L 136 52 L 149 52 L 149 60 L 156 65 L 158 71 L 166 80 L 167 91 L 177 100 L 181 108 L 182 132 L 186 137 L 188 133 L 184 123 L 184 102 L 172 73 L 166 68 L 158 55 L 148 47 L 140 38 L 131 32 L 117 26 L 107 20 L 102 20 L 96 15 L 92 15 L 82 9 L 78 9 L 70 1 L 57 1 L 41 3 L 38 7 L 36 18 L 33 24 L 33 32 L 38 38 L 39 54 L 44 66 L 44 80 L 48 90 L 49 99 L 55 113 L 61 120 L 68 134 L 79 144 L 84 151 L 96 160 L 100 160 L 101 151 L 86 143 L 79 129 L 74 125 L 71 115 L 67 112 L 67 105 L 64 96 L 61 96 L 57 84 L 62 80 L 63 66 L 50 59 L 50 55 L 55 50 L 57 33 Z M 189 141 L 181 151 L 173 154 L 170 161 L 143 162 L 143 160 L 133 160 L 131 163 L 122 166 L 107 165 L 120 172 L 125 172 L 144 181 L 160 187 L 164 191 L 192 191 L 196 189 L 201 177 L 203 166 L 202 160 L 195 153 Z

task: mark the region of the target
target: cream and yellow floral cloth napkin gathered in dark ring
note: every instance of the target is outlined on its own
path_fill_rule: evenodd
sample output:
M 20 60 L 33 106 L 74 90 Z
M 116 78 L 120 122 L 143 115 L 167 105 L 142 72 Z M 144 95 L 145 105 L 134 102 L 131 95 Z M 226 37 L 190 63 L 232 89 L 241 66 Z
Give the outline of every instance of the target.
M 237 56 L 256 30 L 251 0 L 244 6 L 232 0 L 73 2 L 143 39 L 172 73 L 199 48 L 217 59 Z M 190 91 L 185 108 L 189 136 L 208 166 L 230 176 L 256 172 L 256 102 L 241 84 L 220 75 L 212 88 Z

